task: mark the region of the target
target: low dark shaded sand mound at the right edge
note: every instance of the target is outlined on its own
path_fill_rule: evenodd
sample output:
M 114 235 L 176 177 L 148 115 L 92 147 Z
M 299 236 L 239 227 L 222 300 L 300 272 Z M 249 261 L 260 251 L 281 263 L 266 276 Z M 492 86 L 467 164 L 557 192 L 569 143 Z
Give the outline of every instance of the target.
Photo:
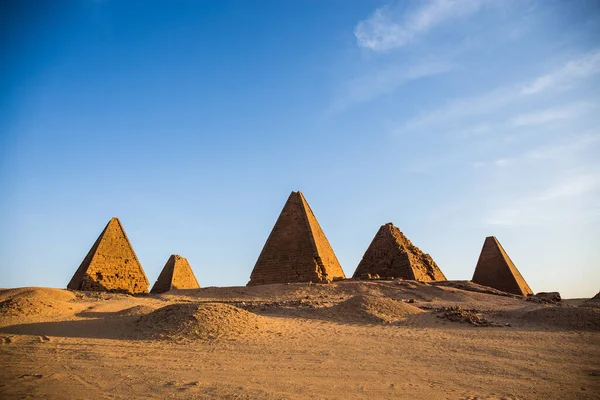
M 588 307 L 545 307 L 526 312 L 529 323 L 549 328 L 600 331 L 600 309 Z

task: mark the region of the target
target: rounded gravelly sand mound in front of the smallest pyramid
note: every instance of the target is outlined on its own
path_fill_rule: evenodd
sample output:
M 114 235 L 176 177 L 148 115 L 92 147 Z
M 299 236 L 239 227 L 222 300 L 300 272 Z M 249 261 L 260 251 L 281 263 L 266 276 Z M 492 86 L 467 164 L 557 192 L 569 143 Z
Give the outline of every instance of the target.
M 172 304 L 136 321 L 144 337 L 155 339 L 236 338 L 256 333 L 263 317 L 219 303 Z

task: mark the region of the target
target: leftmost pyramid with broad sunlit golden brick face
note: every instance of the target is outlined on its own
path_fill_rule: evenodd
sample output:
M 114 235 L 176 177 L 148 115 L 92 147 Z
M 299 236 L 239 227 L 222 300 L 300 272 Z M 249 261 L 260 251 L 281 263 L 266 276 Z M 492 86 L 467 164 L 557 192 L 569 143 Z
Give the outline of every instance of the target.
M 72 290 L 148 293 L 148 278 L 123 225 L 112 218 L 67 285 Z

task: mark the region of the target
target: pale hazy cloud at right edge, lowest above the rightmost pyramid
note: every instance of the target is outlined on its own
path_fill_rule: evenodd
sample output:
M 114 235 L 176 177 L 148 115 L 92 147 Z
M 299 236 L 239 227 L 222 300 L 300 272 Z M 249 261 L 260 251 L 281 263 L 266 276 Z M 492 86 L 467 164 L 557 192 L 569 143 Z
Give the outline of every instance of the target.
M 589 223 L 600 217 L 600 207 L 588 201 L 600 187 L 600 174 L 569 176 L 536 194 L 518 198 L 492 210 L 487 225 L 524 226 L 554 221 Z

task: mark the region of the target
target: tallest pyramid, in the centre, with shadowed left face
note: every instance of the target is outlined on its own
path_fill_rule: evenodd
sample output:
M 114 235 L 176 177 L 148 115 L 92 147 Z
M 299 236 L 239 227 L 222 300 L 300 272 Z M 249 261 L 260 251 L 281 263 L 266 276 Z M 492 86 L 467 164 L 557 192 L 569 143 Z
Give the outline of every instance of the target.
M 331 282 L 344 271 L 301 192 L 288 198 L 248 285 Z

